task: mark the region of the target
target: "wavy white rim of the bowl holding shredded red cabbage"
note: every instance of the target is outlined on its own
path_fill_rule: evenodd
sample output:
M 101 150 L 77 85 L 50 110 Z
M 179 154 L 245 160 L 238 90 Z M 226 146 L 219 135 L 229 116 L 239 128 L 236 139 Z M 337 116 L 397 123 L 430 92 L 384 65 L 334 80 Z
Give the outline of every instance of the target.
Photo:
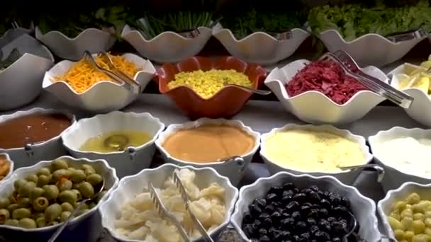
M 307 62 L 306 64 L 309 64 L 309 63 L 311 63 L 312 61 L 310 61 L 310 60 L 308 60 L 308 59 L 297 59 L 296 61 L 293 61 L 293 62 L 290 62 L 289 64 L 286 64 L 286 65 L 284 65 L 284 67 L 286 67 L 286 66 L 288 66 L 288 65 L 290 65 L 290 64 L 292 64 L 292 63 L 294 63 L 294 62 Z M 283 69 L 284 67 L 281 67 L 281 68 L 279 68 L 279 67 L 275 67 L 274 69 L 272 69 L 272 71 L 281 71 L 281 69 Z M 367 67 L 371 67 L 371 68 L 375 68 L 375 69 L 377 69 L 377 70 L 379 70 L 379 71 L 381 71 L 381 69 L 379 69 L 378 67 L 374 67 L 374 66 L 367 66 Z M 367 67 L 361 67 L 361 69 L 365 69 L 365 68 L 367 68 Z M 301 71 L 302 69 L 298 69 L 298 71 Z M 278 79 L 269 79 L 269 76 L 272 74 L 272 71 L 267 75 L 267 79 L 265 79 L 265 81 L 264 81 L 264 83 L 265 83 L 265 85 L 267 85 L 267 83 L 272 83 L 272 82 L 276 82 L 276 83 L 279 83 L 279 85 L 280 86 L 286 86 L 286 84 L 284 84 L 282 81 L 280 81 L 280 80 L 278 80 Z M 298 72 L 296 72 L 296 73 L 298 73 Z M 381 73 L 382 74 L 384 74 L 384 72 L 383 71 L 381 71 Z M 380 80 L 381 81 L 381 80 Z M 387 82 L 388 81 L 388 79 L 386 79 L 385 81 L 381 81 L 381 82 L 385 82 L 385 83 L 388 83 Z M 286 93 L 287 93 L 287 91 L 286 91 Z M 374 93 L 374 91 L 369 91 L 369 90 L 361 90 L 361 91 L 357 91 L 356 93 L 354 93 L 354 95 L 351 97 L 351 98 L 349 98 L 349 100 L 347 100 L 347 102 L 345 102 L 345 103 L 343 103 L 343 104 L 338 104 L 338 103 L 335 103 L 331 98 L 329 98 L 328 96 L 326 96 L 325 94 L 323 94 L 323 93 L 321 93 L 320 91 L 314 91 L 314 90 L 312 90 L 312 91 L 305 91 L 305 92 L 303 92 L 303 93 L 300 93 L 300 94 L 298 94 L 298 95 L 296 95 L 296 96 L 293 96 L 293 97 L 290 97 L 290 96 L 287 96 L 287 98 L 283 95 L 283 100 L 287 100 L 287 101 L 290 101 L 290 100 L 293 100 L 293 99 L 295 99 L 295 98 L 299 98 L 299 97 L 301 97 L 301 96 L 305 96 L 306 94 L 309 94 L 309 93 L 316 93 L 316 94 L 318 94 L 319 96 L 323 96 L 324 98 L 326 98 L 327 100 L 329 100 L 330 101 L 330 103 L 332 104 L 332 105 L 335 105 L 335 106 L 337 106 L 338 108 L 342 108 L 342 107 L 345 107 L 345 106 L 347 106 L 347 105 L 349 105 L 350 103 L 352 103 L 353 102 L 353 100 L 355 99 L 355 98 L 357 98 L 357 96 L 359 96 L 359 95 L 362 95 L 363 93 L 370 93 L 370 94 L 373 94 L 374 96 L 376 96 L 376 97 L 379 97 L 379 98 L 383 98 L 383 100 L 385 100 L 386 98 L 384 98 L 384 97 L 382 97 L 382 96 L 380 96 L 380 95 L 378 95 L 377 93 Z M 289 95 L 289 94 L 288 94 Z

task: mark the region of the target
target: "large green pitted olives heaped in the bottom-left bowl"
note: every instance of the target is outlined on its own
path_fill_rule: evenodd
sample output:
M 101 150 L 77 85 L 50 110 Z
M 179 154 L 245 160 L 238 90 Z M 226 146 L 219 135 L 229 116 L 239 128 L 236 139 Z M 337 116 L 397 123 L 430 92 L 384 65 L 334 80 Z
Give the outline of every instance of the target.
M 79 202 L 94 195 L 103 178 L 89 164 L 70 166 L 56 159 L 25 179 L 15 180 L 9 197 L 0 197 L 0 224 L 35 229 L 65 221 Z M 100 192 L 97 202 L 106 192 Z M 96 206 L 84 204 L 76 217 Z

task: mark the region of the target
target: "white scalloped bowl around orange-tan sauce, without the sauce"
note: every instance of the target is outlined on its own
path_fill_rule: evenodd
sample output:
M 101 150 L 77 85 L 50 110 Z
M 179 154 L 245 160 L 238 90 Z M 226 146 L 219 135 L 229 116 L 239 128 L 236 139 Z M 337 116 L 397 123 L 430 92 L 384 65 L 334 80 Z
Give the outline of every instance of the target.
M 198 127 L 201 125 L 232 125 L 233 127 L 238 127 L 241 130 L 247 132 L 252 137 L 254 137 L 254 147 L 247 153 L 242 155 L 242 159 L 244 159 L 244 163 L 240 162 L 211 162 L 211 163 L 195 163 L 192 161 L 183 161 L 180 159 L 176 159 L 171 156 L 169 152 L 164 149 L 163 144 L 164 141 L 170 137 L 172 134 L 175 134 L 181 129 L 193 129 L 194 127 Z M 193 122 L 184 122 L 181 125 L 169 125 L 164 132 L 159 135 L 159 138 L 156 140 L 157 149 L 159 149 L 160 153 L 162 153 L 162 157 L 166 163 L 174 163 L 178 166 L 194 166 L 197 168 L 201 167 L 211 167 L 214 168 L 215 171 L 220 173 L 220 175 L 224 175 L 230 179 L 230 182 L 233 185 L 237 185 L 240 183 L 242 176 L 245 173 L 245 169 L 252 162 L 252 158 L 259 148 L 259 139 L 260 134 L 258 132 L 254 132 L 251 127 L 245 126 L 243 122 L 240 120 L 225 120 L 223 118 L 218 119 L 209 119 L 206 117 L 200 118 Z M 202 144 L 205 145 L 205 144 Z

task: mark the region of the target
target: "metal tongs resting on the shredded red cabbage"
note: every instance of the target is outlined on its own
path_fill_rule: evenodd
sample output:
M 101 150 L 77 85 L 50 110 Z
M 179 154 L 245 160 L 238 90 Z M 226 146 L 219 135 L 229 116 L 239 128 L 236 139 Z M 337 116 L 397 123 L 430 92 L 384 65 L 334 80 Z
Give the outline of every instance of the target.
M 364 86 L 369 88 L 374 93 L 387 98 L 396 105 L 401 106 L 402 108 L 409 108 L 413 103 L 413 97 L 409 96 L 407 93 L 403 91 L 399 91 L 388 83 L 384 83 L 379 79 L 376 79 L 374 76 L 370 76 L 365 74 L 358 66 L 354 59 L 342 50 L 337 50 L 336 52 L 328 52 L 323 54 L 319 60 L 323 59 L 331 59 L 340 64 L 345 73 L 349 76 L 352 76 L 354 79 L 357 79 Z

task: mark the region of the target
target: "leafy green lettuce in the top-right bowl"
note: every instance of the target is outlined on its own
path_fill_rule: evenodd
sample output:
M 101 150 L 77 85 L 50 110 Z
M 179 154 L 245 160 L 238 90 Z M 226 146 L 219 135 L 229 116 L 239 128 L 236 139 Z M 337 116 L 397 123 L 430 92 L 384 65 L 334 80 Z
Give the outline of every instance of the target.
M 431 32 L 431 8 L 428 1 L 420 0 L 415 6 L 386 7 L 383 1 L 371 8 L 360 4 L 345 6 L 318 6 L 308 14 L 313 33 L 337 30 L 347 41 L 367 33 L 383 36 L 422 28 Z

